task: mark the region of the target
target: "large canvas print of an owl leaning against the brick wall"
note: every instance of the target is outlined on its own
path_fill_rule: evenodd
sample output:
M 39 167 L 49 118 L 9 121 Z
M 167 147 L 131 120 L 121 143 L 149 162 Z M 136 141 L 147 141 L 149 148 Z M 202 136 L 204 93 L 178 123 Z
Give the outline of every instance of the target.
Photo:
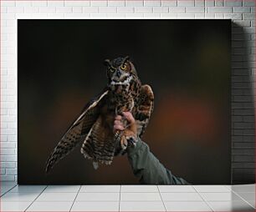
M 230 184 L 229 20 L 18 20 L 18 184 Z

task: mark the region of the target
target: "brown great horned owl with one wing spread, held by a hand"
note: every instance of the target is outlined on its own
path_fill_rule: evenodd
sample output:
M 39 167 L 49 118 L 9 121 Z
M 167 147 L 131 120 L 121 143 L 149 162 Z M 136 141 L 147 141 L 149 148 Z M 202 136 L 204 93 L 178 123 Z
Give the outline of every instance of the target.
M 60 139 L 46 165 L 49 172 L 60 159 L 82 143 L 81 153 L 98 163 L 111 164 L 115 155 L 124 154 L 129 139 L 142 136 L 153 110 L 154 95 L 149 85 L 141 85 L 129 57 L 106 59 L 108 83 L 103 92 L 87 103 L 79 117 Z M 131 130 L 113 132 L 115 116 L 130 111 L 138 134 Z M 125 120 L 124 124 L 125 124 Z M 131 143 L 132 144 L 132 143 Z

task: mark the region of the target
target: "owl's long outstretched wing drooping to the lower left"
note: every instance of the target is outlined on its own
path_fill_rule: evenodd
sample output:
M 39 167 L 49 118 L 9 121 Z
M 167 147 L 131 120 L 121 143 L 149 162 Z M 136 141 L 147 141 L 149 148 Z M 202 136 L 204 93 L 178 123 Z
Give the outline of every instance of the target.
M 85 105 L 79 117 L 71 124 L 62 139 L 60 139 L 59 144 L 57 144 L 50 154 L 46 163 L 46 173 L 86 137 L 86 134 L 88 134 L 92 125 L 95 124 L 95 121 L 99 117 L 100 108 L 105 104 L 105 98 L 108 92 L 108 89 L 105 88 L 103 92 Z

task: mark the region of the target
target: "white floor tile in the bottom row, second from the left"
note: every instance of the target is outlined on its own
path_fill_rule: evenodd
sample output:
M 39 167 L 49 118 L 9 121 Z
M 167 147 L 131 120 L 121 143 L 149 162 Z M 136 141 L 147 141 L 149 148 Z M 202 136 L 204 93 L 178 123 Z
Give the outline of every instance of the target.
M 26 211 L 69 211 L 73 202 L 33 202 Z

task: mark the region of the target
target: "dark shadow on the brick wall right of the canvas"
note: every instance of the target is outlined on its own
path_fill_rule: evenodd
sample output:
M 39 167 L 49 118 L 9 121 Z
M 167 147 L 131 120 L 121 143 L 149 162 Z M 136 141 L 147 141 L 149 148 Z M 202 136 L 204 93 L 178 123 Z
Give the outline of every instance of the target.
M 232 183 L 255 183 L 253 65 L 251 34 L 232 23 Z M 253 41 L 252 41 L 253 42 Z M 253 55 L 252 55 L 253 56 Z

